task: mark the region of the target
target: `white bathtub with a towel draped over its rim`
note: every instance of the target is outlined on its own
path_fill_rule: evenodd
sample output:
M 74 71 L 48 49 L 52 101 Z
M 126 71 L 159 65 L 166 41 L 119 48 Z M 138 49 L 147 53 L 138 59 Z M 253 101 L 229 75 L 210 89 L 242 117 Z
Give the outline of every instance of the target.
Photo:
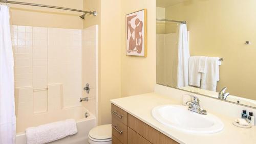
M 96 126 L 96 117 L 89 112 L 89 116 L 85 117 L 85 113 L 88 112 L 84 107 L 72 107 L 55 112 L 47 112 L 40 114 L 27 115 L 27 117 L 17 117 L 17 134 L 16 144 L 26 144 L 26 133 L 25 129 L 28 127 L 35 127 L 42 124 L 63 121 L 65 119 L 74 118 L 77 122 L 78 133 L 72 136 L 68 136 L 57 141 L 50 143 L 74 143 L 84 144 L 88 143 L 88 133 Z M 29 121 L 28 121 L 29 119 Z

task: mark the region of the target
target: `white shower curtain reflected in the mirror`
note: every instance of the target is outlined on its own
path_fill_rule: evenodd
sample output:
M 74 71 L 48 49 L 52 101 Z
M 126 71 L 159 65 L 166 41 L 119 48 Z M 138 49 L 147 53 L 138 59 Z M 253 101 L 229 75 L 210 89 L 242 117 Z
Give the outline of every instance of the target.
M 188 60 L 190 57 L 188 47 L 187 25 L 180 24 L 178 29 L 178 67 L 177 87 L 188 86 Z

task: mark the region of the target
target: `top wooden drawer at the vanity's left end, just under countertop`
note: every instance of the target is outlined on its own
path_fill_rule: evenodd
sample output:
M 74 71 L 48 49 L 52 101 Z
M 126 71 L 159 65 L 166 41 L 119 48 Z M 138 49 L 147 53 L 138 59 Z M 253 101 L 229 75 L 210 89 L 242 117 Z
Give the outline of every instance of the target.
M 114 104 L 111 104 L 111 113 L 112 113 L 112 119 L 113 117 L 116 118 L 118 121 L 123 123 L 127 126 L 127 115 L 128 113 L 119 107 L 115 106 Z

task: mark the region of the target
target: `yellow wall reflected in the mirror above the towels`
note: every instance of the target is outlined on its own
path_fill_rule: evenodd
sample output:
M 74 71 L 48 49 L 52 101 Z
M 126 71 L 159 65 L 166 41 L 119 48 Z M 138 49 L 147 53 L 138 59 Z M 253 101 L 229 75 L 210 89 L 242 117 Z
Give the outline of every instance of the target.
M 256 1 L 187 1 L 166 8 L 166 18 L 186 20 L 191 56 L 222 57 L 217 90 L 256 99 Z M 251 45 L 245 45 L 251 41 Z

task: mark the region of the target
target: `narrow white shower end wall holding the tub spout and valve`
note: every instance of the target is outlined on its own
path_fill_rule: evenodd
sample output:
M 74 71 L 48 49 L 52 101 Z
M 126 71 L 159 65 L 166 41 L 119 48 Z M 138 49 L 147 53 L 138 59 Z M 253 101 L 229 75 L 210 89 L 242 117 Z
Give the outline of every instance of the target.
M 98 89 L 98 26 L 82 30 L 82 86 L 90 84 L 90 93 L 83 91 L 83 97 L 89 97 L 89 102 L 83 106 L 97 117 Z

